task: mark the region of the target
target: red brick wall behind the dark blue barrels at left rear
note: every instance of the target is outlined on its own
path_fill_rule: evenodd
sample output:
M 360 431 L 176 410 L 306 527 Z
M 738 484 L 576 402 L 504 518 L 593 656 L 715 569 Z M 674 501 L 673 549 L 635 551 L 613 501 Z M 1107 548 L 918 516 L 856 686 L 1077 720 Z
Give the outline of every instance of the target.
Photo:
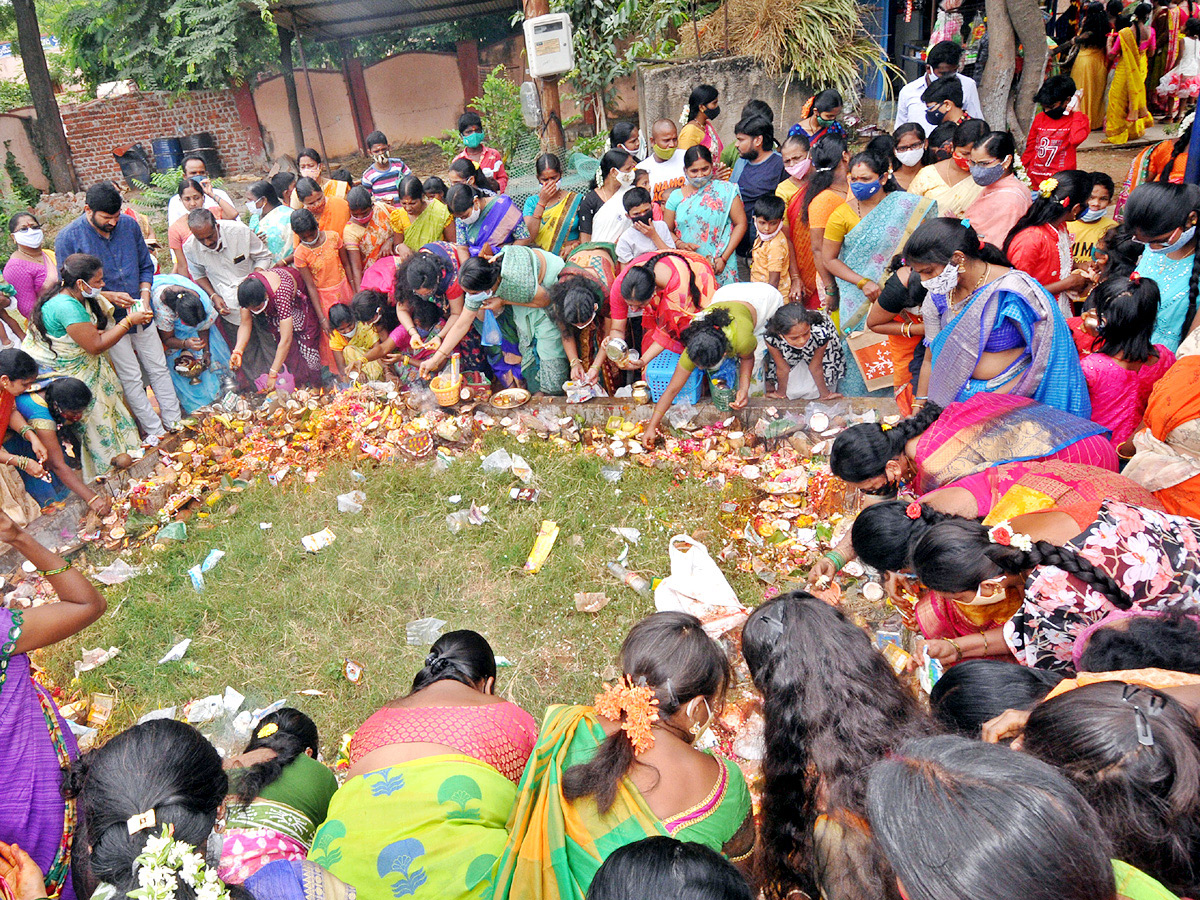
M 187 94 L 133 92 L 62 107 L 62 124 L 84 185 L 118 179 L 113 150 L 140 143 L 152 156 L 155 138 L 212 134 L 226 174 L 259 173 L 262 138 L 239 114 L 233 90 Z M 253 124 L 257 128 L 257 122 Z

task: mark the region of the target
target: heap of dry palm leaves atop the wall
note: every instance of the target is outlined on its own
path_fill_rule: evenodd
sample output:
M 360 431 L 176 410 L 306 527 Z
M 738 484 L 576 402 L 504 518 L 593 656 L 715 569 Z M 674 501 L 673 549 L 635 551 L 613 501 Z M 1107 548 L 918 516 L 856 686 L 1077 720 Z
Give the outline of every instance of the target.
M 725 6 L 730 52 L 772 72 L 852 94 L 864 74 L 889 65 L 866 34 L 856 0 L 726 0 Z M 700 20 L 700 55 L 725 49 L 725 6 Z M 696 55 L 692 29 L 680 29 L 679 37 L 680 55 Z

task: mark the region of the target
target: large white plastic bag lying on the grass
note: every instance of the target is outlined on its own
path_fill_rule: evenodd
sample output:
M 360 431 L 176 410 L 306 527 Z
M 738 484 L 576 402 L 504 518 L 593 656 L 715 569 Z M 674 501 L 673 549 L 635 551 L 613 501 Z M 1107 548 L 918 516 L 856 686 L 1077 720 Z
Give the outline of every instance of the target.
M 659 612 L 688 612 L 704 623 L 704 631 L 718 638 L 739 628 L 750 614 L 733 593 L 708 547 L 686 534 L 677 534 L 667 545 L 671 575 L 654 590 Z

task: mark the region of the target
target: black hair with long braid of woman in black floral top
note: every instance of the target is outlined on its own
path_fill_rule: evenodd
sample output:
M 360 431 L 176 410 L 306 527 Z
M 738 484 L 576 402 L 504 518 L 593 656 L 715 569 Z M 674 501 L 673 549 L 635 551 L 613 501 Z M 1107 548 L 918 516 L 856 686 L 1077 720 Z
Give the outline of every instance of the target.
M 1118 610 L 1133 600 L 1116 580 L 1070 547 L 1034 541 L 1032 550 L 992 544 L 988 529 L 968 518 L 953 518 L 929 527 L 913 545 L 912 568 L 930 590 L 976 590 L 988 578 L 1018 575 L 1039 565 L 1054 565 L 1074 575 Z

